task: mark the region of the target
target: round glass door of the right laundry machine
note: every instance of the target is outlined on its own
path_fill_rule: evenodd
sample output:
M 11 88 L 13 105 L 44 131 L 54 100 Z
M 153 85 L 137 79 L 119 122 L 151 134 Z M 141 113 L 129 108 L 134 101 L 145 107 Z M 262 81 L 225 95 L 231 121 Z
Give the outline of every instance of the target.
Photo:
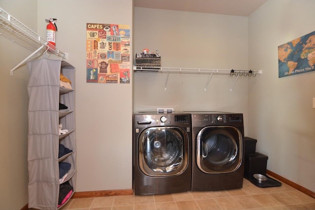
M 198 132 L 196 160 L 204 173 L 229 173 L 242 163 L 242 133 L 235 127 L 205 127 Z

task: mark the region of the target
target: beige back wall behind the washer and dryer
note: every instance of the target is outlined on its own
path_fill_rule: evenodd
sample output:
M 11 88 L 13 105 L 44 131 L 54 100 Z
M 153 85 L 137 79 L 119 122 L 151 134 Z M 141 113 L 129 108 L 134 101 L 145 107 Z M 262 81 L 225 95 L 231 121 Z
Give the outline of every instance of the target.
M 135 7 L 135 53 L 161 54 L 162 67 L 248 69 L 248 18 Z M 205 74 L 134 73 L 134 110 L 173 107 L 175 111 L 244 113 L 247 125 L 248 81 Z M 205 87 L 207 90 L 205 91 Z M 247 129 L 247 126 L 245 127 Z M 245 130 L 247 132 L 247 130 Z

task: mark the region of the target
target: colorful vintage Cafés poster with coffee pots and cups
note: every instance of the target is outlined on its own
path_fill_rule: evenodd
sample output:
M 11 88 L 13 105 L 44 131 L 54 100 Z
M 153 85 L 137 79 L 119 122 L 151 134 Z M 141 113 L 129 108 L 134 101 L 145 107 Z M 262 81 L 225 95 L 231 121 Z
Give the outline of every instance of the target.
M 130 82 L 130 26 L 87 23 L 87 82 Z

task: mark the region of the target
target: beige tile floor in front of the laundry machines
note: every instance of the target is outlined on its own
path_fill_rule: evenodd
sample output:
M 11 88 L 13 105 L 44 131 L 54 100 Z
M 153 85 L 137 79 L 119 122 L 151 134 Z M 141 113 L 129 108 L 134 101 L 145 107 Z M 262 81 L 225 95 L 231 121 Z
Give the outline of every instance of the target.
M 260 188 L 244 179 L 242 189 L 77 198 L 62 210 L 315 210 L 315 199 L 284 183 Z

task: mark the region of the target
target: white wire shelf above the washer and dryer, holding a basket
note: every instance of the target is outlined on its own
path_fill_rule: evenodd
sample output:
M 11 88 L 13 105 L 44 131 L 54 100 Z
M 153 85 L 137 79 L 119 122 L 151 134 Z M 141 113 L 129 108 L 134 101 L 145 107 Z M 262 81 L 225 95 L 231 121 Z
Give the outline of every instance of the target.
M 262 74 L 262 70 L 233 70 L 233 69 L 196 69 L 196 68 L 173 68 L 173 67 L 142 67 L 142 66 L 133 66 L 133 70 L 135 72 L 160 72 L 160 73 L 167 73 L 166 81 L 164 90 L 166 90 L 166 85 L 168 81 L 168 75 L 169 73 L 186 73 L 186 74 L 209 74 L 209 78 L 207 80 L 207 83 L 205 85 L 205 91 L 207 90 L 208 84 L 210 82 L 210 79 L 212 78 L 213 74 L 219 74 L 219 75 L 230 75 L 235 76 L 236 79 L 233 83 L 233 85 L 230 88 L 230 91 L 232 91 L 232 88 L 236 82 L 236 80 L 239 77 L 256 77 L 257 74 Z

